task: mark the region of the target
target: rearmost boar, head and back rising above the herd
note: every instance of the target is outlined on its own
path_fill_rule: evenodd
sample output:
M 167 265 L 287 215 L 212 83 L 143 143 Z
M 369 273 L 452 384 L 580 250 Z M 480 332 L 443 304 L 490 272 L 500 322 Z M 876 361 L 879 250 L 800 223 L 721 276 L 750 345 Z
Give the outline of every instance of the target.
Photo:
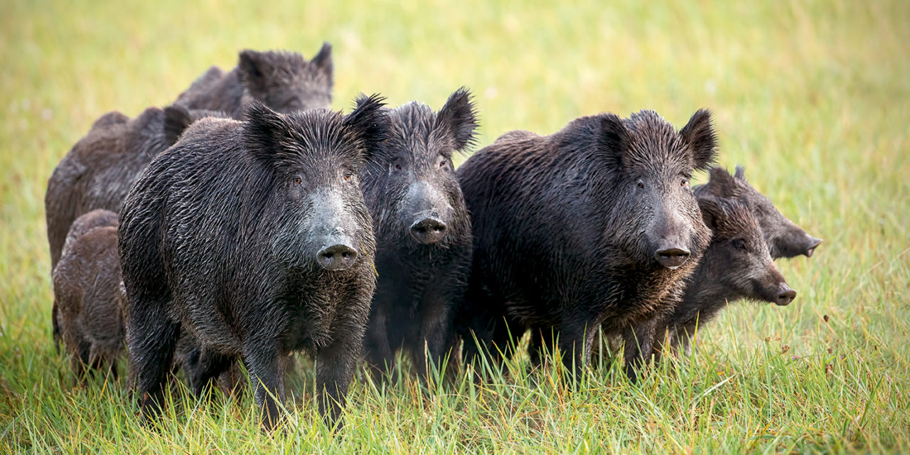
M 329 108 L 332 101 L 332 46 L 323 43 L 307 61 L 296 52 L 245 50 L 225 73 L 217 66 L 199 76 L 177 103 L 193 109 L 224 111 L 238 118 L 251 99 L 289 113 Z

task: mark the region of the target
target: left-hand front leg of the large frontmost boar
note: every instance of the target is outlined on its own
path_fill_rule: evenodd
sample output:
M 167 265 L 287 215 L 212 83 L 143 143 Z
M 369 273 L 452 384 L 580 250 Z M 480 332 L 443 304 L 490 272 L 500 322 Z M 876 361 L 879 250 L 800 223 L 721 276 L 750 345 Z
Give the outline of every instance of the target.
M 285 402 L 284 369 L 279 361 L 278 342 L 272 339 L 256 339 L 244 349 L 244 361 L 249 370 L 249 380 L 256 389 L 256 404 L 262 411 L 262 426 L 274 429 L 284 415 L 279 404 Z

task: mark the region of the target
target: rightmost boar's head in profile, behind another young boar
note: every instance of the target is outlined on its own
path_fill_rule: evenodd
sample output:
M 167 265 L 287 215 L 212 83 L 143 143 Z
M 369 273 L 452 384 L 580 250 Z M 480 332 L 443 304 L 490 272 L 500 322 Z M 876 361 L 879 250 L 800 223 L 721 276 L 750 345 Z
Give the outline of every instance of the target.
M 794 258 L 799 255 L 811 258 L 815 248 L 822 243 L 821 238 L 806 234 L 793 221 L 781 215 L 770 199 L 749 185 L 743 167 L 736 167 L 735 176 L 731 176 L 723 167 L 713 167 L 711 180 L 695 187 L 695 194 L 731 197 L 745 203 L 762 227 L 772 258 Z

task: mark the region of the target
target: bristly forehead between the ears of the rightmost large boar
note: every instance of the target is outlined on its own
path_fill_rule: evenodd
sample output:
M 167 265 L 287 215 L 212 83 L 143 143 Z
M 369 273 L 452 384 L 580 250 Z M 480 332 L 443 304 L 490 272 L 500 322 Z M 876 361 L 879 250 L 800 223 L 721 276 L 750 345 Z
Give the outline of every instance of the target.
M 641 111 L 623 120 L 631 143 L 623 156 L 628 171 L 639 176 L 688 176 L 692 152 L 669 122 L 653 111 Z

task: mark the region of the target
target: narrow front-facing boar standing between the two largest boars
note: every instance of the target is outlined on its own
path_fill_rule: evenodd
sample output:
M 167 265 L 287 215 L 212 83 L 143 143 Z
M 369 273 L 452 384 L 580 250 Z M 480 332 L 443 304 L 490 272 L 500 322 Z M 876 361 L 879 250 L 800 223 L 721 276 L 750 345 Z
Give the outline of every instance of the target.
M 428 356 L 438 368 L 450 353 L 451 309 L 464 297 L 471 248 L 452 153 L 470 147 L 477 123 L 464 88 L 438 113 L 417 102 L 389 110 L 389 140 L 363 177 L 379 274 L 364 350 L 377 377 L 399 348 L 424 379 Z

